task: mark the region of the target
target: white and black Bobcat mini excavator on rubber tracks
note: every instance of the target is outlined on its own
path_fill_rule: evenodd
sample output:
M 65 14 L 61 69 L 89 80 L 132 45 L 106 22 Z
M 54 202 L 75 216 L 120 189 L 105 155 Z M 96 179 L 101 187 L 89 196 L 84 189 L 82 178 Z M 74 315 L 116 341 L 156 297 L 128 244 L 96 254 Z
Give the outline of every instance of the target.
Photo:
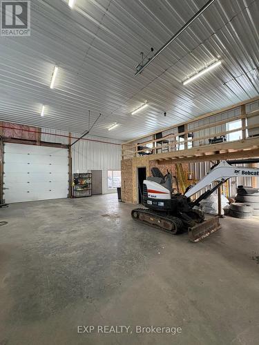
M 173 235 L 188 230 L 189 239 L 198 242 L 221 228 L 219 217 L 210 217 L 204 220 L 204 213 L 194 208 L 200 201 L 207 199 L 218 187 L 231 177 L 259 177 L 258 168 L 244 168 L 231 164 L 258 162 L 258 159 L 244 159 L 240 161 L 221 161 L 211 168 L 211 171 L 194 186 L 186 188 L 184 195 L 173 193 L 172 176 L 162 175 L 158 168 L 152 168 L 152 177 L 144 180 L 143 205 L 146 208 L 136 208 L 132 211 L 133 219 L 144 224 L 154 226 Z M 214 181 L 218 183 L 196 199 L 191 196 L 203 188 L 210 186 Z

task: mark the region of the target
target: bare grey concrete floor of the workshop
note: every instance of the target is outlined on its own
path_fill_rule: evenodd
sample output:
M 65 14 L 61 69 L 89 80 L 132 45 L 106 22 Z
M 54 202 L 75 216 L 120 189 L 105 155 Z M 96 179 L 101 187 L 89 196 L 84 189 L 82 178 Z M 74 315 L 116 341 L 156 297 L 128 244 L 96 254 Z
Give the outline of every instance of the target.
M 258 344 L 259 221 L 222 219 L 192 244 L 137 224 L 132 208 L 104 195 L 0 210 L 1 345 Z

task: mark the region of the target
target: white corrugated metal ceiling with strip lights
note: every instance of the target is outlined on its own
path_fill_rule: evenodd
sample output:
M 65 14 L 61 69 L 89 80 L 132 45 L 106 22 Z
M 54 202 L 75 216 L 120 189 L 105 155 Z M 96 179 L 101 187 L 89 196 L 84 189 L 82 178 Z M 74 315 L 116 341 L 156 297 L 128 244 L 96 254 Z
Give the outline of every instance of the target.
M 259 0 L 216 0 L 134 77 L 140 52 L 158 50 L 206 2 L 31 1 L 31 37 L 0 38 L 0 119 L 84 132 L 90 110 L 90 125 L 102 112 L 91 135 L 126 140 L 257 96 Z M 222 66 L 182 85 L 216 58 Z

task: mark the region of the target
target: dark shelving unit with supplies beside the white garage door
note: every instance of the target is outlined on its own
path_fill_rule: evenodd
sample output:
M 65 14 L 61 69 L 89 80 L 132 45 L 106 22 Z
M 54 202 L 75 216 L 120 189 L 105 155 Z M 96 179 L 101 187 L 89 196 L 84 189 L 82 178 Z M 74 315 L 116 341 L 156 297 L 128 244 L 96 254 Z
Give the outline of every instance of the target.
M 90 197 L 92 195 L 92 173 L 73 174 L 73 197 Z

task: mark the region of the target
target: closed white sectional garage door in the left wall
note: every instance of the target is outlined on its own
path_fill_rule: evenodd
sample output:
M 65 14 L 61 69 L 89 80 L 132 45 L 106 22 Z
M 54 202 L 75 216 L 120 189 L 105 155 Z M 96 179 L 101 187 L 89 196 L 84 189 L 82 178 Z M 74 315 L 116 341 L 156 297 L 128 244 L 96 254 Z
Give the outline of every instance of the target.
M 6 203 L 68 196 L 68 150 L 4 144 Z

